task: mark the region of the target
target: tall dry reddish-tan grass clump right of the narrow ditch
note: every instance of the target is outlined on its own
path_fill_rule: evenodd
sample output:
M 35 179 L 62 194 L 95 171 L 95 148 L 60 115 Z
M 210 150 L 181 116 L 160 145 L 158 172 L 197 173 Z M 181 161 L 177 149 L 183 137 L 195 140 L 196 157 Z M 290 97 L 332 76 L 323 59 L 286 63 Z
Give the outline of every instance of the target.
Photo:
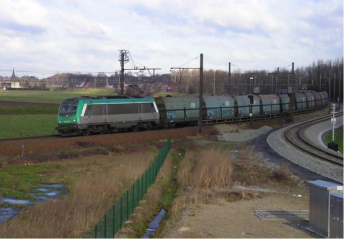
M 223 189 L 230 180 L 232 165 L 220 150 L 187 151 L 181 161 L 177 181 L 179 190 L 168 214 L 176 221 L 188 205 L 205 204 L 226 195 Z

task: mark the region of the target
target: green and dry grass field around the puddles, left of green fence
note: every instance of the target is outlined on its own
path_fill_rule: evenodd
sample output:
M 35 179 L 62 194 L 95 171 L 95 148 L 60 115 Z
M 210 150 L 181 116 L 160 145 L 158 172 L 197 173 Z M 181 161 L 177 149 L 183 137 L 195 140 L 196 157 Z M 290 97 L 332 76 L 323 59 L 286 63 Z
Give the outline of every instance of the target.
M 25 198 L 23 193 L 30 192 L 37 183 L 66 183 L 68 195 L 56 202 L 35 204 L 8 222 L 0 223 L 0 237 L 82 237 L 156 154 L 156 147 L 149 147 L 144 152 L 113 153 L 111 158 L 93 155 L 40 164 L 2 165 L 5 170 L 0 170 L 0 194 L 3 196 Z

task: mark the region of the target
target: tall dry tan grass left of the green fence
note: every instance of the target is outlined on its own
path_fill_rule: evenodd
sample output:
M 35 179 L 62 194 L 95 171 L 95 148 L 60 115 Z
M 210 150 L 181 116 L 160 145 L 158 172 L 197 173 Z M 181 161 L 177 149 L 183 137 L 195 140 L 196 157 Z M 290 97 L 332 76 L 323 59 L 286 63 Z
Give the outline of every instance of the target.
M 70 185 L 71 193 L 64 200 L 36 204 L 23 210 L 18 217 L 0 224 L 0 237 L 82 236 L 152 159 L 153 155 L 149 153 L 123 154 L 108 159 L 105 171 L 87 175 Z

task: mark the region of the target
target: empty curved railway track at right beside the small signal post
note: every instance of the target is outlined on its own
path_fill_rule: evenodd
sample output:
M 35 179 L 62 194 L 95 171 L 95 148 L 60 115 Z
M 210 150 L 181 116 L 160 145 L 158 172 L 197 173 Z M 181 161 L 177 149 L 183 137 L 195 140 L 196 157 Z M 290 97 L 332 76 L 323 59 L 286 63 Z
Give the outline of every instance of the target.
M 342 116 L 343 112 L 335 114 L 335 116 Z M 305 137 L 305 130 L 308 127 L 311 127 L 314 124 L 329 120 L 331 115 L 326 115 L 320 118 L 317 118 L 312 121 L 307 121 L 303 123 L 298 123 L 296 125 L 291 126 L 285 131 L 285 137 L 290 144 L 301 149 L 312 156 L 320 158 L 325 161 L 330 161 L 337 165 L 343 165 L 343 157 L 338 155 L 336 152 L 330 152 L 330 150 L 324 150 L 317 146 L 311 144 L 307 138 Z

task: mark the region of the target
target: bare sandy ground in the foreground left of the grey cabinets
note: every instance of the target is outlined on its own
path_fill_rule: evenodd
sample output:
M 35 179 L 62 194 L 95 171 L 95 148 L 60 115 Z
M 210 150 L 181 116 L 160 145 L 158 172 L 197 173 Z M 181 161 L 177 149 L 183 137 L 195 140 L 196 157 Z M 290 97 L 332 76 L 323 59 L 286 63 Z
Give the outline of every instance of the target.
M 307 220 L 261 220 L 256 210 L 308 210 L 307 192 L 270 193 L 262 198 L 192 206 L 182 215 L 169 238 L 320 238 L 303 228 Z

